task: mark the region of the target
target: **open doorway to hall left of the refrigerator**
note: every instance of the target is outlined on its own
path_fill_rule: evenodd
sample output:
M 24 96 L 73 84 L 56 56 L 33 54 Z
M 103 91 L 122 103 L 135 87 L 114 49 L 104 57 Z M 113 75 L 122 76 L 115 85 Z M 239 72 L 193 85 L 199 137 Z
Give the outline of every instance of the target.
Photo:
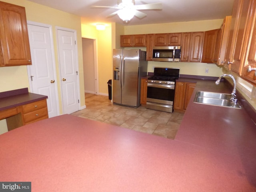
M 96 57 L 96 40 L 82 38 L 84 92 L 98 94 L 98 69 Z

